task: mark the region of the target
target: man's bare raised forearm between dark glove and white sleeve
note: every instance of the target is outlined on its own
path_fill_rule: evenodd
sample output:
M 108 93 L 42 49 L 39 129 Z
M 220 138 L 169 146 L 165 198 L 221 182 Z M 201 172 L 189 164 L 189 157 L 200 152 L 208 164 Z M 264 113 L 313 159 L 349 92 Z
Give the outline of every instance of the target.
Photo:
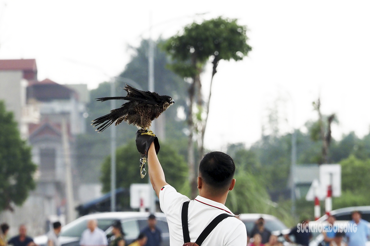
M 161 163 L 159 163 L 157 153 L 155 153 L 154 142 L 151 143 L 148 150 L 148 169 L 150 182 L 152 183 L 155 193 L 159 197 L 159 191 L 167 183 Z

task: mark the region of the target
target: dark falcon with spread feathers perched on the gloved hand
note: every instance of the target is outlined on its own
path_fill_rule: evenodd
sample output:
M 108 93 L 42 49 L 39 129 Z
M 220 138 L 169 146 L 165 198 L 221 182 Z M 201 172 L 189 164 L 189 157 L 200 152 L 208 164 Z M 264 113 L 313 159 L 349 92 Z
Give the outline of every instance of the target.
M 154 135 L 150 131 L 152 121 L 157 119 L 169 106 L 175 103 L 170 96 L 159 96 L 158 93 L 151 91 L 142 91 L 126 85 L 127 91 L 125 97 L 101 97 L 97 101 L 107 100 L 127 100 L 120 108 L 111 110 L 109 114 L 94 119 L 91 125 L 99 126 L 95 131 L 102 132 L 115 122 L 119 125 L 122 121 L 135 125 L 142 129 L 144 134 Z M 155 135 L 154 135 L 155 136 Z

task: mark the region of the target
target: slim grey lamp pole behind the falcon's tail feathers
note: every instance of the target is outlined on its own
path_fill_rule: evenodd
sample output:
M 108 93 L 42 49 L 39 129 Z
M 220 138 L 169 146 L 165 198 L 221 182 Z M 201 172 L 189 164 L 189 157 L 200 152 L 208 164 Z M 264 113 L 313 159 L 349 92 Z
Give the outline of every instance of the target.
M 115 77 L 111 79 L 111 97 L 115 97 Z M 111 100 L 111 109 L 115 108 L 115 101 Z M 116 190 L 116 128 L 111 126 L 111 211 L 115 212 Z

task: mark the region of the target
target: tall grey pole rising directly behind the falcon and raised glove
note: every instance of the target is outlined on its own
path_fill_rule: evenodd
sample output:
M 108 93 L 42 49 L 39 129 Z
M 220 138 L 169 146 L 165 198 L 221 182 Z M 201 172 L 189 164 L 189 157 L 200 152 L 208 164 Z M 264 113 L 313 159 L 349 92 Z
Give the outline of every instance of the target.
M 148 49 L 148 89 L 149 91 L 154 91 L 154 43 L 152 41 L 152 13 L 149 17 L 149 49 Z M 155 122 L 152 121 L 152 131 L 155 133 Z M 149 167 L 148 167 L 149 169 Z M 148 183 L 151 186 L 149 172 L 148 172 Z M 149 211 L 151 213 L 155 212 L 155 196 L 154 191 L 149 189 Z

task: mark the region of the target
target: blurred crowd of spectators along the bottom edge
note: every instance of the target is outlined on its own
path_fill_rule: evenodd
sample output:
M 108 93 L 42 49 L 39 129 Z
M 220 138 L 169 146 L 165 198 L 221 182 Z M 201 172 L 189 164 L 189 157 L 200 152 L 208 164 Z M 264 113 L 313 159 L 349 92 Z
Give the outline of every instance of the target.
M 352 220 L 349 224 L 356 224 L 356 232 L 343 232 L 325 230 L 327 228 L 333 228 L 336 224 L 336 217 L 330 215 L 327 218 L 326 227 L 323 230 L 324 240 L 322 246 L 365 246 L 367 240 L 370 238 L 370 231 L 368 222 L 361 219 L 361 212 L 353 211 Z M 309 219 L 303 219 L 303 228 L 310 221 Z M 137 239 L 129 244 L 128 246 L 159 246 L 162 241 L 161 231 L 157 228 L 157 220 L 155 215 L 151 214 L 148 217 L 148 226 L 144 228 Z M 330 225 L 330 226 L 329 226 Z M 54 222 L 52 229 L 47 233 L 47 246 L 61 246 L 58 236 L 61 231 L 61 223 Z M 25 225 L 19 226 L 19 235 L 7 240 L 7 234 L 9 232 L 9 225 L 3 223 L 0 225 L 0 246 L 38 246 L 34 243 L 30 236 L 27 236 L 27 228 Z M 312 238 L 312 233 L 303 231 L 297 231 L 297 227 L 290 230 L 289 234 L 284 235 L 287 242 L 292 242 L 293 236 L 294 243 L 297 245 L 308 246 L 309 240 Z M 344 238 L 346 240 L 344 240 Z M 98 222 L 96 220 L 89 220 L 87 222 L 87 229 L 82 233 L 80 239 L 80 246 L 126 246 L 125 233 L 122 230 L 121 221 L 114 221 L 112 224 L 112 240 L 108 242 L 105 232 L 98 228 Z M 276 235 L 273 235 L 265 227 L 265 219 L 259 218 L 252 230 L 248 235 L 248 246 L 283 246 L 283 243 L 278 240 Z

